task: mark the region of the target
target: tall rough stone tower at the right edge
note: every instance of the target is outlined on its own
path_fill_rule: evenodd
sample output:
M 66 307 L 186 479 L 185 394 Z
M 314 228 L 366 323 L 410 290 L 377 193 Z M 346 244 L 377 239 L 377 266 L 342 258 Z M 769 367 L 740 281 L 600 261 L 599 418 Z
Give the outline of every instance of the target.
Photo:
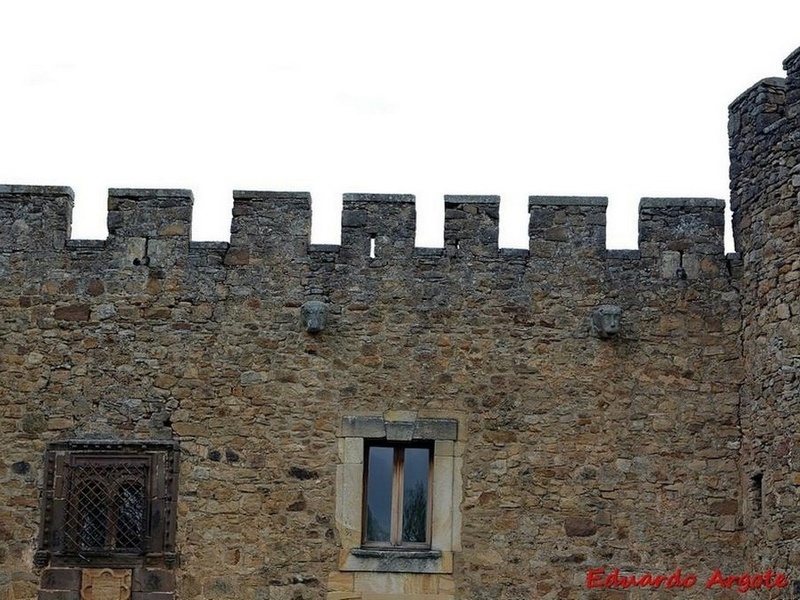
M 800 563 L 800 53 L 730 107 L 731 206 L 743 262 L 742 487 L 752 563 Z

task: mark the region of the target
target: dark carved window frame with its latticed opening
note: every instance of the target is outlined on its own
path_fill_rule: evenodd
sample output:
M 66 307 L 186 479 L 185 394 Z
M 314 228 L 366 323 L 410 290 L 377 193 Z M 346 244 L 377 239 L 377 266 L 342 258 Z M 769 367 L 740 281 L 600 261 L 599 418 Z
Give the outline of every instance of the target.
M 37 565 L 172 566 L 178 464 L 171 441 L 49 444 Z

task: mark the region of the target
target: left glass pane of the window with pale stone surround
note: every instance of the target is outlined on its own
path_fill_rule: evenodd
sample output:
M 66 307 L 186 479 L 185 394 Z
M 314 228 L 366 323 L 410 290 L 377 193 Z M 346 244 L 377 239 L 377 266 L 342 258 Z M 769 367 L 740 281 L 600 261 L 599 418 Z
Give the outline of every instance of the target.
M 388 542 L 392 531 L 392 470 L 394 448 L 372 446 L 367 458 L 368 542 Z

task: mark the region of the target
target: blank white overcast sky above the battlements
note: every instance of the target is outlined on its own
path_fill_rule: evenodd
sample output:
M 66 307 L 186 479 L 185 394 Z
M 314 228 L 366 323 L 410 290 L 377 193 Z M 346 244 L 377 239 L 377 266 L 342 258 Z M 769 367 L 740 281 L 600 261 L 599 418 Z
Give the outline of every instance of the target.
M 636 247 L 642 196 L 728 198 L 727 106 L 782 76 L 798 0 L 3 2 L 0 182 L 69 185 L 73 237 L 109 187 L 182 187 L 227 240 L 233 189 L 304 190 L 338 243 L 344 192 L 608 196 Z M 729 248 L 730 249 L 730 248 Z

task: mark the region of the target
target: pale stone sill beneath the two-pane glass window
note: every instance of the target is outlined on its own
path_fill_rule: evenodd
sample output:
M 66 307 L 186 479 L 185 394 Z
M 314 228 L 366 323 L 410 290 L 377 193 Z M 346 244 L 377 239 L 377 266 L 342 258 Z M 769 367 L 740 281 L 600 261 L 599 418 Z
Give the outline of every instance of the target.
M 398 550 L 394 548 L 351 548 L 344 553 L 342 571 L 375 573 L 452 573 L 452 552 L 441 550 Z

